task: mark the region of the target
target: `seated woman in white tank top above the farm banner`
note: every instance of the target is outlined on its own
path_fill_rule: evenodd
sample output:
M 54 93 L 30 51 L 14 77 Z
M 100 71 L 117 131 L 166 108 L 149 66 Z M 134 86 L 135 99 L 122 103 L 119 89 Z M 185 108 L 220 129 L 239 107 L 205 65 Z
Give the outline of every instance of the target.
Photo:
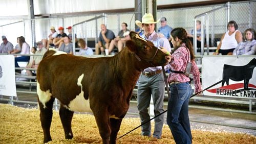
M 229 21 L 227 23 L 228 31 L 221 37 L 221 41 L 217 46 L 217 50 L 214 55 L 232 55 L 234 49 L 238 46 L 238 43 L 242 42 L 242 33 L 238 30 L 236 21 Z

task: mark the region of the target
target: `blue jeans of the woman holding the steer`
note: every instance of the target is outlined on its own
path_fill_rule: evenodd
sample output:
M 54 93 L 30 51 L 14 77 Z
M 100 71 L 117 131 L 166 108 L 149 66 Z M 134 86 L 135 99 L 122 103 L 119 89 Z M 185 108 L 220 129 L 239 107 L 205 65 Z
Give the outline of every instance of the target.
M 192 142 L 188 117 L 190 94 L 191 86 L 188 82 L 170 85 L 166 121 L 176 143 Z

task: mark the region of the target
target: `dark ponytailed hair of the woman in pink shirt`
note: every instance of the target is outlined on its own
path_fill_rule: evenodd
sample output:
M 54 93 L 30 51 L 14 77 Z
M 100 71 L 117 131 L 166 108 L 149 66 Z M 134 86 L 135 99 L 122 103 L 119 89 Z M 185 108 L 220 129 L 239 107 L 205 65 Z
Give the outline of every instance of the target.
M 189 50 L 189 53 L 190 53 L 190 60 L 194 60 L 195 59 L 195 55 L 194 55 L 194 52 L 193 52 L 193 45 L 192 43 L 190 42 L 190 40 L 187 38 L 187 32 L 185 29 L 183 28 L 175 28 L 173 29 L 172 32 L 170 32 L 170 35 L 172 35 L 173 38 L 176 38 L 178 37 L 180 40 L 182 40 L 181 44 L 182 43 L 185 43 L 187 49 Z M 174 53 L 174 51 L 176 51 L 177 49 L 179 48 L 176 47 L 173 51 L 172 51 L 172 54 Z

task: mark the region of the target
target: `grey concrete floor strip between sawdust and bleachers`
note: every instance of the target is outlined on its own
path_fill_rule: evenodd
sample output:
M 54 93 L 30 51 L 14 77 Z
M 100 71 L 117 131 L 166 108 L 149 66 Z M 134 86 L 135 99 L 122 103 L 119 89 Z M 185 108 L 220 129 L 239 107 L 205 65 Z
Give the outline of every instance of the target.
M 17 93 L 18 100 L 37 102 L 36 94 Z M 8 98 L 8 97 L 4 97 Z M 1 101 L 1 103 L 7 103 Z M 165 102 L 166 103 L 166 102 Z M 37 105 L 15 103 L 15 105 L 31 108 Z M 128 112 L 138 113 L 135 103 L 131 103 Z M 195 104 L 193 104 L 195 105 Z M 164 106 L 167 109 L 167 106 Z M 164 114 L 166 118 L 166 113 Z M 139 117 L 138 115 L 126 114 L 125 117 Z M 191 129 L 199 129 L 212 132 L 235 132 L 256 135 L 256 115 L 226 112 L 217 110 L 207 110 L 199 108 L 189 108 L 189 118 Z M 135 126 L 136 127 L 136 126 Z

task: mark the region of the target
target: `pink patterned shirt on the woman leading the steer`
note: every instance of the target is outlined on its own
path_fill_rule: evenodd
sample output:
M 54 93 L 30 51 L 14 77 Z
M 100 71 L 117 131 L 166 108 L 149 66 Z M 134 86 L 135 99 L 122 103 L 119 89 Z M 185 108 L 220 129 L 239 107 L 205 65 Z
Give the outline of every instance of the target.
M 186 68 L 187 60 L 190 62 L 188 50 L 186 50 L 185 43 L 172 54 L 172 60 L 169 62 L 170 69 L 175 71 L 184 71 Z M 196 92 L 201 91 L 200 72 L 198 70 L 195 60 L 192 61 L 192 68 L 190 73 L 193 75 Z M 190 79 L 183 74 L 170 73 L 167 82 L 189 82 Z

